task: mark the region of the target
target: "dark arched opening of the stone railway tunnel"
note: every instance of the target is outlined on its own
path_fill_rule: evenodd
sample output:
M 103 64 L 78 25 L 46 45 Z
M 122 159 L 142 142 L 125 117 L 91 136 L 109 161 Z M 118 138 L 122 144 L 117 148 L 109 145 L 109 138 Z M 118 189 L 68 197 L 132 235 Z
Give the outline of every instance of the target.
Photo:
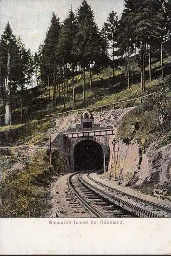
M 74 148 L 75 170 L 100 170 L 103 159 L 103 148 L 94 140 L 82 140 Z

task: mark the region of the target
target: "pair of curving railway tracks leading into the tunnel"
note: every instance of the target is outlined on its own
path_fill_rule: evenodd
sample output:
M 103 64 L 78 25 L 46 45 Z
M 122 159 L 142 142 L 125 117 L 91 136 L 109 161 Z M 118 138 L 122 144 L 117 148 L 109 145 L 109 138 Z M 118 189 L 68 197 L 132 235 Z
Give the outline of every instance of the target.
M 74 195 L 79 207 L 84 207 L 90 217 L 171 217 L 170 208 L 111 188 L 93 179 L 90 173 L 70 175 L 68 186 L 72 191 L 70 197 Z

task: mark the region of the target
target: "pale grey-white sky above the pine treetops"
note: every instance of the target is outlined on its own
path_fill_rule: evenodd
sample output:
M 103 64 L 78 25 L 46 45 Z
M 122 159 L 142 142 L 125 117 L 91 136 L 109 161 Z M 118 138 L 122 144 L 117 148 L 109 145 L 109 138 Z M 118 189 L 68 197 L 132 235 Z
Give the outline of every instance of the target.
M 114 10 L 121 14 L 124 0 L 87 0 L 95 14 L 99 28 Z M 9 22 L 13 34 L 20 36 L 25 47 L 34 54 L 45 40 L 52 13 L 62 21 L 71 9 L 76 12 L 81 0 L 0 0 L 0 36 Z

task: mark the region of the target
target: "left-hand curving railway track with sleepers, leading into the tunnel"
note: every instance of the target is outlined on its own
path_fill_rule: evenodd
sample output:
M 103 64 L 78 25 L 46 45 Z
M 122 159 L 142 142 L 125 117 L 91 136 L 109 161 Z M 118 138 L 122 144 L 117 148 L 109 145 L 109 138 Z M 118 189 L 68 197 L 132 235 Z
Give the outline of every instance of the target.
M 75 203 L 76 211 L 80 210 L 79 207 L 81 207 L 81 203 L 82 207 L 89 211 L 90 217 L 132 217 L 126 210 L 110 202 L 102 195 L 97 194 L 90 185 L 85 185 L 82 182 L 83 178 L 81 174 L 82 173 L 74 173 L 68 178 L 68 186 L 72 191 L 72 194 L 68 195 L 68 200 Z M 79 201 L 75 200 L 75 197 Z

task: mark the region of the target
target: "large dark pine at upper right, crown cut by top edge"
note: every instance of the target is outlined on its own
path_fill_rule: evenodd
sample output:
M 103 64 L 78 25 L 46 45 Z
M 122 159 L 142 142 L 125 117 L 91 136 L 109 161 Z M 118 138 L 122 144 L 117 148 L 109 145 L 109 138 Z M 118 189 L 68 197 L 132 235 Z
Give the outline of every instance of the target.
M 129 31 L 127 31 L 130 37 L 129 40 L 140 49 L 142 91 L 145 90 L 147 45 L 149 46 L 149 66 L 151 66 L 151 46 L 157 46 L 159 40 L 162 46 L 163 15 L 160 9 L 161 3 L 159 0 L 144 0 L 143 2 L 140 0 L 125 0 L 125 10 L 121 17 L 121 20 L 124 20 L 123 24 L 127 24 L 126 27 L 129 28 Z M 149 76 L 151 77 L 151 67 L 149 67 Z

